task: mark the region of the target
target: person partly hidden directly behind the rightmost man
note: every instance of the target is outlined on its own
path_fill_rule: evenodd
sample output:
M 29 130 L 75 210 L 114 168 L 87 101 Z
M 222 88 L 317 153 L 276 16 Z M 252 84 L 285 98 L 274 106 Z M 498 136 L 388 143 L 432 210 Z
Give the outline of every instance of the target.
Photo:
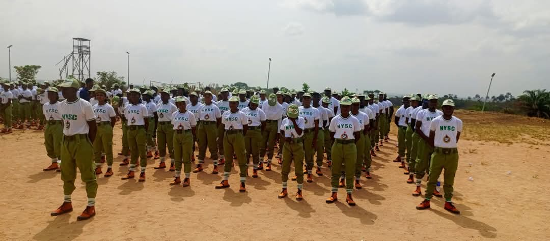
M 439 98 L 432 94 L 428 97 L 428 109 L 424 109 L 418 112 L 416 115 L 416 127 L 415 130 L 420 136 L 420 142 L 418 143 L 418 153 L 416 155 L 415 175 L 416 175 L 416 190 L 412 193 L 413 196 L 418 197 L 421 194 L 420 184 L 422 183 L 422 177 L 428 171 L 430 156 L 433 153 L 433 147 L 430 145 L 430 122 L 437 116 L 443 115 L 441 110 L 437 108 L 437 100 Z M 434 196 L 441 197 L 441 194 L 434 191 Z

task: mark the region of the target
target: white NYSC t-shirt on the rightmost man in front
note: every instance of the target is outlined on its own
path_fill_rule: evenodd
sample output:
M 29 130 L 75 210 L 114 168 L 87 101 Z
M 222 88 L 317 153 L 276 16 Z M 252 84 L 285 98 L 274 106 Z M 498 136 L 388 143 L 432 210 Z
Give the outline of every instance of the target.
M 455 116 L 445 120 L 440 115 L 430 122 L 430 131 L 436 132 L 434 147 L 456 148 L 456 134 L 462 131 L 462 121 Z

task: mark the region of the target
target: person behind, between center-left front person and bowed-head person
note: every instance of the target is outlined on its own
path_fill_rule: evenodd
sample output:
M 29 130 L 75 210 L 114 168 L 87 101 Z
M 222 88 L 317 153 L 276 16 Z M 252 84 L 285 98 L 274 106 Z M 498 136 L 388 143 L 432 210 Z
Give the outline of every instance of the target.
M 246 148 L 246 164 L 248 165 L 250 158 L 252 158 L 252 165 L 254 170 L 252 171 L 252 177 L 258 177 L 258 166 L 260 164 L 260 143 L 262 142 L 262 131 L 266 127 L 266 113 L 264 113 L 258 105 L 260 104 L 260 98 L 257 96 L 250 97 L 249 107 L 241 110 L 248 119 L 248 130 L 244 137 Z M 271 171 L 271 166 L 266 167 L 266 171 Z

